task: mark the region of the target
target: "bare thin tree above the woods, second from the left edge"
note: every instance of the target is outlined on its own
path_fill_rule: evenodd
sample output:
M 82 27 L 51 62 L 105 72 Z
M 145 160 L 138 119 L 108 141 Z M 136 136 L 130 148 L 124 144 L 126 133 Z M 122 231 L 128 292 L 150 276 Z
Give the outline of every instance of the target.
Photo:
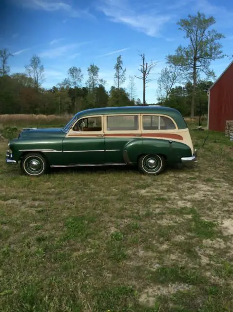
M 38 90 L 44 82 L 44 66 L 41 64 L 39 56 L 33 55 L 30 64 L 25 66 L 25 73 L 33 79 L 34 87 Z

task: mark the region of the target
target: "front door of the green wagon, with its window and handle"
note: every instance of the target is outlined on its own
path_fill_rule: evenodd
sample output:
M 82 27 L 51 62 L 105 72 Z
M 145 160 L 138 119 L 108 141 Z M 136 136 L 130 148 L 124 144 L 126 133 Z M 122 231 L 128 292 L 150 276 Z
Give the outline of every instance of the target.
M 63 139 L 62 145 L 66 165 L 104 163 L 103 116 L 78 119 Z

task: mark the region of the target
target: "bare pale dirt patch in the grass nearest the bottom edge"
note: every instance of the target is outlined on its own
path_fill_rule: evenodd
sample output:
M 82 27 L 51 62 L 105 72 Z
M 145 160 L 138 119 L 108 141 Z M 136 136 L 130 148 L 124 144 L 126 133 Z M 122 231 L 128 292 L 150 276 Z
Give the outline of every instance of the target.
M 178 284 L 178 283 L 169 284 L 168 286 L 158 285 L 158 286 L 148 287 L 141 293 L 138 300 L 143 305 L 146 305 L 148 307 L 154 307 L 157 296 L 169 295 L 169 294 L 179 292 L 179 291 L 182 292 L 190 288 L 192 288 L 192 286 L 187 285 L 187 284 Z

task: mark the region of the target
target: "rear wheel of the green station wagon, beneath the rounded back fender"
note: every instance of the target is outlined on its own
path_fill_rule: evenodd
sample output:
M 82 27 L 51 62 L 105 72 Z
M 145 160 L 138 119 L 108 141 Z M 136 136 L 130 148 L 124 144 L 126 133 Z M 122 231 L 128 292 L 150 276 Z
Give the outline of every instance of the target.
M 138 160 L 141 172 L 147 175 L 158 175 L 165 166 L 164 158 L 160 155 L 143 155 Z

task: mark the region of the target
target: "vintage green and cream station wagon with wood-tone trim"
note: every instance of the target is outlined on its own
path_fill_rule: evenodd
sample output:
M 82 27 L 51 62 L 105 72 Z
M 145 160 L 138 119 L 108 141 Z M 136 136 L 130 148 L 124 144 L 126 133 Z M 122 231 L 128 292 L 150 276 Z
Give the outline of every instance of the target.
M 160 106 L 84 110 L 64 128 L 22 129 L 9 149 L 6 163 L 20 161 L 28 176 L 41 176 L 49 167 L 127 164 L 156 175 L 166 163 L 196 161 L 184 118 Z

